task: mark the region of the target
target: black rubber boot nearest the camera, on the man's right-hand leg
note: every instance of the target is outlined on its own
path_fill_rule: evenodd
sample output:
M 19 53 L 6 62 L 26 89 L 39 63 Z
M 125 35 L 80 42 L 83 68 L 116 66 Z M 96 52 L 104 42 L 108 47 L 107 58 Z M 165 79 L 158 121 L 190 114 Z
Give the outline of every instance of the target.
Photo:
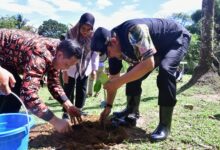
M 160 123 L 150 135 L 151 142 L 163 141 L 168 137 L 171 128 L 173 108 L 174 107 L 160 107 Z

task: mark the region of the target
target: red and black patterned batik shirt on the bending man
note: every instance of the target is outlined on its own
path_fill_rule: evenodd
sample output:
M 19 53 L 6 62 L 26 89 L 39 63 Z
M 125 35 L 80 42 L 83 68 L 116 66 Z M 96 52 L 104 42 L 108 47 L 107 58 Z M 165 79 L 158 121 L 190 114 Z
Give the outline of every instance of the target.
M 60 103 L 67 100 L 59 81 L 59 71 L 52 66 L 58 40 L 31 32 L 0 29 L 0 65 L 23 76 L 20 97 L 27 108 L 48 121 L 53 113 L 39 99 L 40 80 L 47 74 L 48 89 Z

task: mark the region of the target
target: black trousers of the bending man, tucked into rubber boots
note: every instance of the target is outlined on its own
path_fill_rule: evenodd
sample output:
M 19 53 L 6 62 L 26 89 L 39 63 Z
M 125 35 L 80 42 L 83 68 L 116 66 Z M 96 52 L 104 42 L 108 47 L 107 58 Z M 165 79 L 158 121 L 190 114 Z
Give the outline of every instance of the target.
M 183 35 L 182 45 L 175 42 L 169 47 L 167 53 L 155 56 L 156 67 L 159 67 L 159 74 L 157 76 L 157 87 L 159 89 L 158 105 L 173 107 L 176 105 L 176 77 L 175 72 L 187 52 L 190 37 Z M 129 67 L 127 71 L 130 71 Z M 156 68 L 155 67 L 155 68 Z M 138 96 L 142 93 L 142 81 L 148 77 L 150 73 L 144 75 L 142 78 L 129 82 L 126 84 L 127 96 Z M 135 90 L 134 90 L 135 89 Z

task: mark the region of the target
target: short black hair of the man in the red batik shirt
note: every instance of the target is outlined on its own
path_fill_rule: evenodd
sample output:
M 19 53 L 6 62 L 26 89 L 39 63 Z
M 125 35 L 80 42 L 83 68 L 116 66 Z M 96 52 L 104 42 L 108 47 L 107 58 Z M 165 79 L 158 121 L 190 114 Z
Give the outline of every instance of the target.
M 80 59 L 82 56 L 82 50 L 79 43 L 75 40 L 63 40 L 57 46 L 57 50 L 63 52 L 64 57 L 71 58 L 75 56 Z

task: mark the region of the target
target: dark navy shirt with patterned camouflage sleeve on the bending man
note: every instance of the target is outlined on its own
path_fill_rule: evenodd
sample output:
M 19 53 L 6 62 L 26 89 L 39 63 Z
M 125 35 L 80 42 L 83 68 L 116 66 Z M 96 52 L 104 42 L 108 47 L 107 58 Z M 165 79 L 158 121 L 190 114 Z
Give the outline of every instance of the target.
M 167 19 L 133 19 L 112 29 L 119 38 L 122 58 L 131 65 L 138 64 L 152 55 L 164 55 L 175 42 L 182 44 L 181 35 L 189 32 L 181 25 Z M 120 72 L 122 61 L 109 59 L 109 71 Z

